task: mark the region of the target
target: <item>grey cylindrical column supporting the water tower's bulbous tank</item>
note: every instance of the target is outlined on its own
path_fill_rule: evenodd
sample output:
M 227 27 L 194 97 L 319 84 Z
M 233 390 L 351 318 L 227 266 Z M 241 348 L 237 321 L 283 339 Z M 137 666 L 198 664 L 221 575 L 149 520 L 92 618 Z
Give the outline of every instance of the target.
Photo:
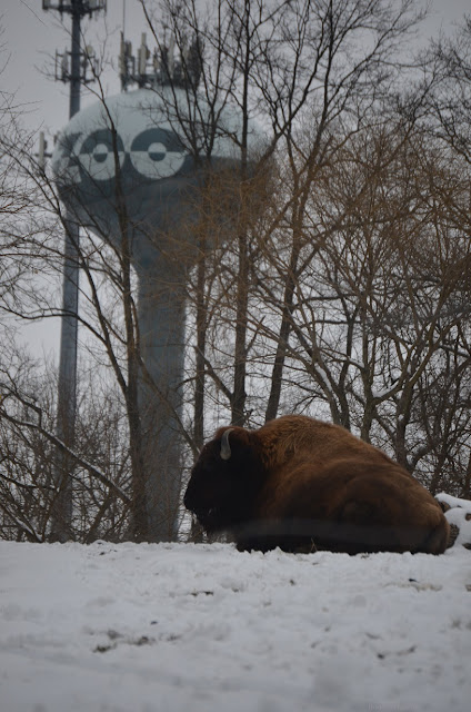
M 182 469 L 184 296 L 177 280 L 169 279 L 169 269 L 156 266 L 140 275 L 139 328 L 150 375 L 140 389 L 149 538 L 176 541 Z

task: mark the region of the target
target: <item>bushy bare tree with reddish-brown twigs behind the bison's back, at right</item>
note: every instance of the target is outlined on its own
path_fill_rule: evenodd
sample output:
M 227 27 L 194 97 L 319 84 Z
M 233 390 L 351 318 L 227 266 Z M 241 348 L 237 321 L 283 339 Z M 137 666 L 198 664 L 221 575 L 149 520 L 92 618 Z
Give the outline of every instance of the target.
M 447 469 L 438 453 L 450 467 L 468 427 L 468 389 L 457 390 L 470 365 L 468 180 L 463 161 L 401 118 L 350 136 L 309 197 L 289 313 L 291 407 L 323 403 L 432 490 Z M 267 275 L 292 270 L 283 238 L 267 250 Z M 261 289 L 284 308 L 281 285 L 265 276 Z

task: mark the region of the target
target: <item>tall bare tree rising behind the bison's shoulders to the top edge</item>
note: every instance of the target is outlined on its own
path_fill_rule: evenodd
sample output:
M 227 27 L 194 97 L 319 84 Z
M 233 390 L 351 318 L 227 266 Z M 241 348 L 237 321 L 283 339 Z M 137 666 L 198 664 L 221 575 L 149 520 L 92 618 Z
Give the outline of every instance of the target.
M 142 6 L 158 40 L 157 12 L 152 12 L 154 6 L 150 2 L 142 2 Z M 183 58 L 188 56 L 186 47 L 191 37 L 194 37 L 194 47 L 198 48 L 200 92 L 189 85 L 189 93 L 197 102 L 202 100 L 211 107 L 211 116 L 214 117 L 214 121 L 209 122 L 209 135 L 200 142 L 199 151 L 190 139 L 196 136 L 194 127 L 200 115 L 193 117 L 192 121 L 187 118 L 182 120 L 177 102 L 169 108 L 169 113 L 180 132 L 189 137 L 189 150 L 199 158 L 210 160 L 214 137 L 226 132 L 234 144 L 234 156 L 239 161 L 239 187 L 232 186 L 238 214 L 231 224 L 233 234 L 224 237 L 227 263 L 220 263 L 220 268 L 227 269 L 226 278 L 213 283 L 214 290 L 207 294 L 204 304 L 201 289 L 197 298 L 200 304 L 197 324 L 203 325 L 204 334 L 210 326 L 203 318 L 204 314 L 211 315 L 210 318 L 217 313 L 218 318 L 226 316 L 224 330 L 232 343 L 232 379 L 227 379 L 227 358 L 221 370 L 209 353 L 202 349 L 206 344 L 203 332 L 200 330 L 197 352 L 200 359 L 198 423 L 201 422 L 202 384 L 206 383 L 203 364 L 206 374 L 211 376 L 220 395 L 227 399 L 231 421 L 242 424 L 250 418 L 253 406 L 249 404 L 251 375 L 248 364 L 252 363 L 252 349 L 257 344 L 253 333 L 255 319 L 251 316 L 254 309 L 251 290 L 258 281 L 254 263 L 263 246 L 270 243 L 270 233 L 283 226 L 292 230 L 293 246 L 291 268 L 284 271 L 284 316 L 279 326 L 265 417 L 277 414 L 285 342 L 290 332 L 293 270 L 301 249 L 301 238 L 298 236 L 308 197 L 315 185 L 319 169 L 325 161 L 333 160 L 335 150 L 344 140 L 343 134 L 342 139 L 337 140 L 335 131 L 350 121 L 348 116 L 353 109 L 357 116 L 360 115 L 360 106 L 361 110 L 367 110 L 387 81 L 391 80 L 390 59 L 395 44 L 407 37 L 418 20 L 412 9 L 409 2 L 380 2 L 374 6 L 347 2 L 342 7 L 322 2 L 314 7 L 310 2 L 234 1 L 216 2 L 209 8 L 208 14 L 203 14 L 194 2 L 160 3 L 164 29 L 176 37 L 179 55 Z M 220 120 L 226 109 L 230 109 L 239 119 L 237 130 L 230 131 Z M 255 154 L 254 142 L 250 141 L 253 120 L 259 121 L 260 134 L 263 134 L 263 141 L 259 141 Z M 309 146 L 301 139 L 301 136 L 305 136 L 303 127 L 308 121 L 311 123 Z M 354 121 L 350 121 L 349 126 L 349 130 L 357 130 Z M 261 177 L 264 176 L 267 185 L 265 167 L 271 164 L 270 170 L 273 168 L 277 151 L 288 156 L 283 179 L 285 181 L 289 175 L 292 182 L 284 195 L 280 191 L 275 208 L 273 201 L 270 208 L 264 204 L 262 217 L 260 211 L 254 212 L 254 205 L 260 208 L 260 202 L 253 200 L 253 195 L 259 191 L 267 200 Z M 219 184 L 213 201 L 220 200 L 220 188 Z M 207 201 L 211 202 L 211 199 L 207 198 Z M 221 230 L 216 228 L 216 233 L 221 234 Z M 207 244 L 211 243 L 211 237 L 204 239 Z M 201 251 L 204 253 L 204 249 Z M 199 265 L 201 285 L 204 260 L 201 259 Z M 221 305 L 221 291 L 216 291 L 218 287 L 227 295 L 229 308 L 226 315 L 209 303 L 216 299 Z M 201 434 L 202 428 L 200 425 L 198 427 Z M 201 435 L 198 439 L 201 439 Z

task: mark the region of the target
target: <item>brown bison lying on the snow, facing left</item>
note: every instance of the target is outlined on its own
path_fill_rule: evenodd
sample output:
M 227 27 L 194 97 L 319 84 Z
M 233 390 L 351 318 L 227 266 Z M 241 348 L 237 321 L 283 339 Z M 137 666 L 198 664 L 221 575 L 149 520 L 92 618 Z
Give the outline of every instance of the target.
M 450 535 L 409 472 L 344 428 L 300 415 L 219 428 L 184 505 L 208 533 L 231 531 L 240 551 L 439 554 Z

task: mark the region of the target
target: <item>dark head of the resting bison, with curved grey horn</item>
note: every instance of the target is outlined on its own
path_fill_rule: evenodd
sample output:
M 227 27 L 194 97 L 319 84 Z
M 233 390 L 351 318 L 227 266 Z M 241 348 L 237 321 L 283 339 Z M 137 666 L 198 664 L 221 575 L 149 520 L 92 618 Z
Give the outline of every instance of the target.
M 207 532 L 229 528 L 250 518 L 262 481 L 249 431 L 220 428 L 194 464 L 183 503 Z

